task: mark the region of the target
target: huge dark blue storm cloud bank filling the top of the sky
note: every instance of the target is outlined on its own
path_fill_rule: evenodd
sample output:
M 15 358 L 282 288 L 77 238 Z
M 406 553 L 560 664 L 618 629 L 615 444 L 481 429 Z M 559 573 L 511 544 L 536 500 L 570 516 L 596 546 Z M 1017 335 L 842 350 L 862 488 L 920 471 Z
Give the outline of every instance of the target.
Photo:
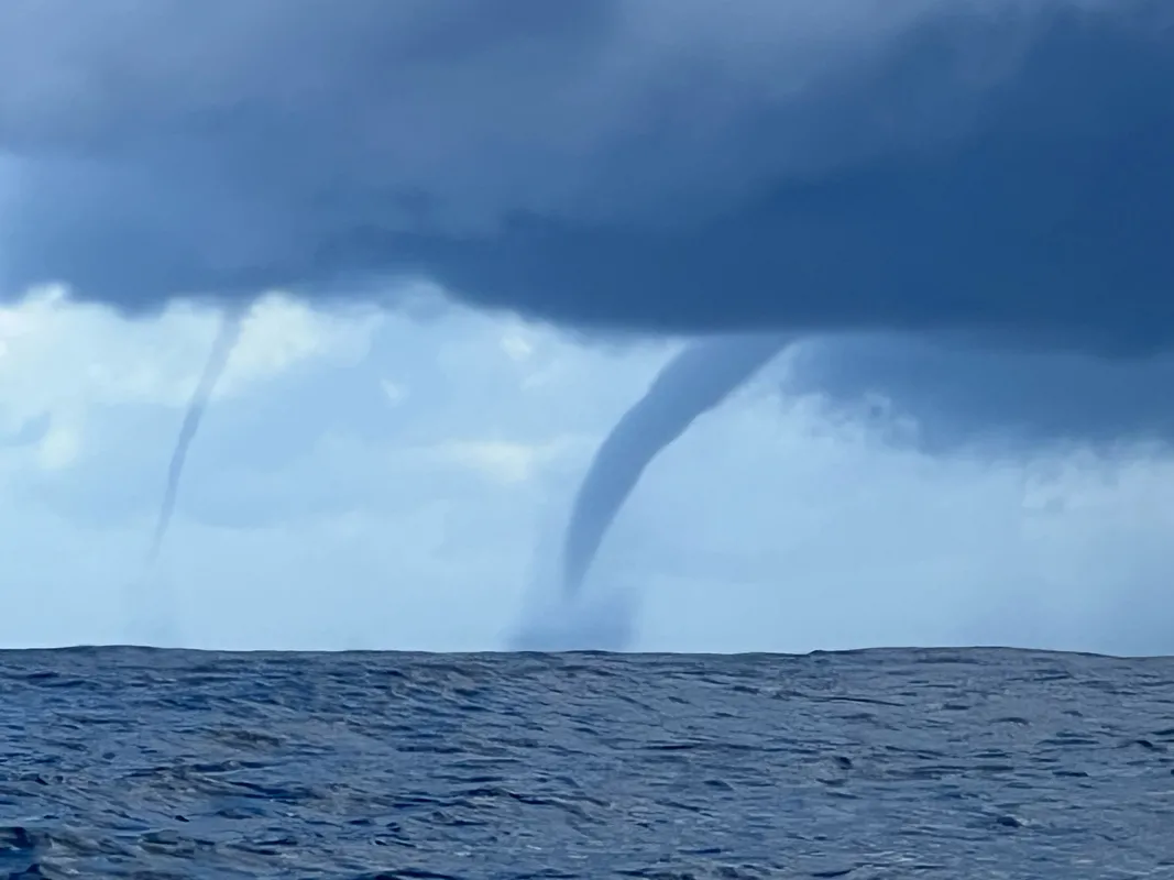
M 1174 343 L 1168 0 L 0 5 L 0 268 Z

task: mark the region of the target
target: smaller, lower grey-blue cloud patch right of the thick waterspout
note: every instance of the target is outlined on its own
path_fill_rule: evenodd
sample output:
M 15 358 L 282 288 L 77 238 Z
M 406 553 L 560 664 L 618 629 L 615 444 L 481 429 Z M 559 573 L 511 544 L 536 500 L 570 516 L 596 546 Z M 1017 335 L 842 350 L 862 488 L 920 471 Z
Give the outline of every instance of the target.
M 989 350 L 873 336 L 798 344 L 783 391 L 831 411 L 906 418 L 935 453 L 1020 455 L 1080 445 L 1174 442 L 1174 357 L 1106 363 L 1081 353 Z

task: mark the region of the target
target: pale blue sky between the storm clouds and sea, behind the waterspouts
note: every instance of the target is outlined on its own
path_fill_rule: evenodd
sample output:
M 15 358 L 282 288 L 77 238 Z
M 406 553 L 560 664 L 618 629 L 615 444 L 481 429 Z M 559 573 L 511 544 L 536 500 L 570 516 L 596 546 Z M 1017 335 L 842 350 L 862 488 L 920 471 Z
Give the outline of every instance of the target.
M 595 444 L 673 346 L 417 311 L 257 305 L 143 580 L 216 313 L 0 310 L 0 644 L 506 644 Z M 639 598 L 633 647 L 1174 651 L 1167 462 L 931 459 L 788 401 L 785 368 L 622 513 L 591 591 Z

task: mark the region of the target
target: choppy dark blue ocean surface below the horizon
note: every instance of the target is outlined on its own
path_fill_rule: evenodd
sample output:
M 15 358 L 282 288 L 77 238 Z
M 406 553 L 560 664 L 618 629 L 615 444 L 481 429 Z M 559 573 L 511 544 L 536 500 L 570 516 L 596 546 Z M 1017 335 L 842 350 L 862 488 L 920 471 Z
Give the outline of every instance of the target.
M 1174 878 L 1174 661 L 0 654 L 0 878 Z

